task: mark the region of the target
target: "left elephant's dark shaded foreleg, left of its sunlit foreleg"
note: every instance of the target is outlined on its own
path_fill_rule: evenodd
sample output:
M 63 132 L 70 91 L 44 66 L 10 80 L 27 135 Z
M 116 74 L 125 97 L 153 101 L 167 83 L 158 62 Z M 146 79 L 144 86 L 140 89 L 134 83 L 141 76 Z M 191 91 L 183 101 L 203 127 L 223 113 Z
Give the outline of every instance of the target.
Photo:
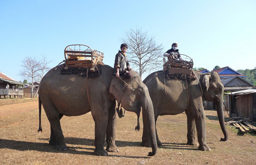
M 104 107 L 104 106 L 102 106 Z M 107 156 L 108 152 L 104 149 L 104 143 L 106 141 L 106 132 L 108 124 L 109 109 L 92 109 L 92 117 L 95 121 L 95 150 L 94 155 Z

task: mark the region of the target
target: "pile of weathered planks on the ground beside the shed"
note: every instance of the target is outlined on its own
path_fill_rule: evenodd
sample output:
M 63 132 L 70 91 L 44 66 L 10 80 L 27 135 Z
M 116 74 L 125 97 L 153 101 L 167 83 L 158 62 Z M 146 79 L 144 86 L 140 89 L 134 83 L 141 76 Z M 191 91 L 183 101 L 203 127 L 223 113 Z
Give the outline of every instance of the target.
M 249 118 L 241 118 L 241 117 L 233 117 L 230 118 L 226 125 L 234 125 L 237 129 L 239 129 L 241 132 L 256 132 L 256 127 L 252 125 L 253 122 L 249 120 Z

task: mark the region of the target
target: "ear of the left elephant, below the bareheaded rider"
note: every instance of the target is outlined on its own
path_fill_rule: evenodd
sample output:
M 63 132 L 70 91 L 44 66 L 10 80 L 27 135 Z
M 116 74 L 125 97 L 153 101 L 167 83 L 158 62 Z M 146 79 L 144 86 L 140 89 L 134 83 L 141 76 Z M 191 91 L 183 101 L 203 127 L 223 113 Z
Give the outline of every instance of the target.
M 123 96 L 123 92 L 124 92 L 123 88 L 124 88 L 124 84 L 123 82 L 121 82 L 121 80 L 119 80 L 119 78 L 117 77 L 111 78 L 109 93 L 111 93 L 114 96 L 114 98 L 118 103 L 120 103 L 121 98 Z

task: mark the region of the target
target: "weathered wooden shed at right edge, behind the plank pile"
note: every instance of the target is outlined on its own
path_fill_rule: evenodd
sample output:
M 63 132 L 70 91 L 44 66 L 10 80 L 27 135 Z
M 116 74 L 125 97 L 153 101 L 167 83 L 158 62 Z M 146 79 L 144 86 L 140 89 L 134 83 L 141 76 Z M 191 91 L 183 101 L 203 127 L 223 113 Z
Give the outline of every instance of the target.
M 249 90 L 226 93 L 231 117 L 246 117 L 256 121 L 256 87 Z

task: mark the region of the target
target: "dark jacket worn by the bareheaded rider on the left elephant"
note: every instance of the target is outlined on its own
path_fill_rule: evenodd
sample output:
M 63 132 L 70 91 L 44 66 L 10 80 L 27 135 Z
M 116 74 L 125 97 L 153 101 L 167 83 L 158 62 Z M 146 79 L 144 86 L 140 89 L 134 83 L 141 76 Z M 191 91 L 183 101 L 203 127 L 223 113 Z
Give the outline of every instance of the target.
M 119 68 L 119 73 L 123 73 L 123 71 L 126 68 L 130 68 L 130 64 L 129 64 L 129 61 L 127 59 L 127 56 L 124 55 L 123 52 L 120 51 L 120 50 L 116 54 L 114 68 L 115 68 L 115 72 L 116 72 L 116 68 Z

